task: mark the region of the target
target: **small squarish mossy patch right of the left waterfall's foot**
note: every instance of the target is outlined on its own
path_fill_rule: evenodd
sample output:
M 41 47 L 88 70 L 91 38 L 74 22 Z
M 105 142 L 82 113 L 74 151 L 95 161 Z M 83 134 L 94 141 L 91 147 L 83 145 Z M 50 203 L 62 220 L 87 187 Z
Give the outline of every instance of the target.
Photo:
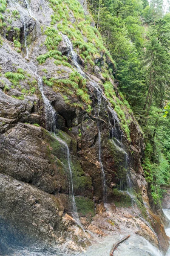
M 83 196 L 75 197 L 77 212 L 81 216 L 94 216 L 94 201 Z

